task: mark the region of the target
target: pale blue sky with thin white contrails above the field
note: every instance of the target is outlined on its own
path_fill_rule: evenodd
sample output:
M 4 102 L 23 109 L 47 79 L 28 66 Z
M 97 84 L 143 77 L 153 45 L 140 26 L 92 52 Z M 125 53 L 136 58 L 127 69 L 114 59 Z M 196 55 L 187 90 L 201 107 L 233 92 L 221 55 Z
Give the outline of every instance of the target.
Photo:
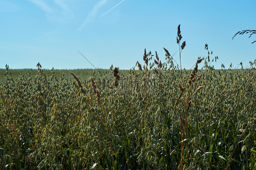
M 179 24 L 183 68 L 207 56 L 206 43 L 215 68 L 245 67 L 256 58 L 256 34 L 232 37 L 256 29 L 255 11 L 255 0 L 0 0 L 0 68 L 93 68 L 77 50 L 96 68 L 143 65 L 145 48 L 163 63 L 163 47 L 179 49 Z

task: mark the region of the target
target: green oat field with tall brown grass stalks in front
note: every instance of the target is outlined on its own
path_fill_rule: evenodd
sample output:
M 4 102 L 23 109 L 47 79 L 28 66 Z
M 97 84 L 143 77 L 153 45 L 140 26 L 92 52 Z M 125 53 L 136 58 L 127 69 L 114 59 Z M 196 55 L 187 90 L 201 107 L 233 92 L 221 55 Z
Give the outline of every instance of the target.
M 179 57 L 185 42 L 181 42 Z M 256 169 L 255 62 L 232 72 L 204 58 L 57 77 L 41 65 L 0 81 L 1 169 Z M 198 68 L 203 69 L 198 69 Z M 216 74 L 217 71 L 217 74 Z

